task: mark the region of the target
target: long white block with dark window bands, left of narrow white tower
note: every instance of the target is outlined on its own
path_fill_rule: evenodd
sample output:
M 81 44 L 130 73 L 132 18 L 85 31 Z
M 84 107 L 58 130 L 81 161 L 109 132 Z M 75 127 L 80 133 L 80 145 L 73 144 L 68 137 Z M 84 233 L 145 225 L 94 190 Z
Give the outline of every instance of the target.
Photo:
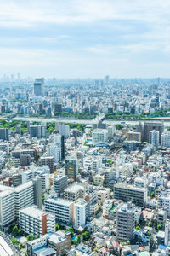
M 44 202 L 45 211 L 55 215 L 57 223 L 61 224 L 72 224 L 73 219 L 73 207 L 74 202 L 64 200 L 61 198 L 48 198 Z

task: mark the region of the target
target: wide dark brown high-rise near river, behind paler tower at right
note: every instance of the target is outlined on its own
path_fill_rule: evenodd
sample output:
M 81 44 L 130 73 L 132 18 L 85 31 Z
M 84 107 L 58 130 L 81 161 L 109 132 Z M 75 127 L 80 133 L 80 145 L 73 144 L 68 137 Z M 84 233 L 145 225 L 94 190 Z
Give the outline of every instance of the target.
M 144 122 L 144 141 L 150 142 L 150 131 L 159 131 L 159 142 L 161 142 L 161 133 L 164 131 L 163 122 Z

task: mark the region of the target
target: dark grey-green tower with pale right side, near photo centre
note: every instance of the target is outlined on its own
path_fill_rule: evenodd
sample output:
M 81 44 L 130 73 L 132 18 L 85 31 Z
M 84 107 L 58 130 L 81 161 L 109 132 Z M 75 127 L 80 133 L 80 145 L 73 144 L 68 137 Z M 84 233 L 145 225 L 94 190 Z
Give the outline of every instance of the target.
M 76 157 L 68 157 L 65 160 L 65 175 L 74 180 L 78 175 L 78 160 Z

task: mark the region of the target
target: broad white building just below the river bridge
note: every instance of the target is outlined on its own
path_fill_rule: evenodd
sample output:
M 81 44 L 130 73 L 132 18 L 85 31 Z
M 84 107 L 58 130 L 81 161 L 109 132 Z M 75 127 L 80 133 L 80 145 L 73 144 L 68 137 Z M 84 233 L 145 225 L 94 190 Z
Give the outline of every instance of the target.
M 106 129 L 94 129 L 92 137 L 94 143 L 108 143 L 108 131 Z

